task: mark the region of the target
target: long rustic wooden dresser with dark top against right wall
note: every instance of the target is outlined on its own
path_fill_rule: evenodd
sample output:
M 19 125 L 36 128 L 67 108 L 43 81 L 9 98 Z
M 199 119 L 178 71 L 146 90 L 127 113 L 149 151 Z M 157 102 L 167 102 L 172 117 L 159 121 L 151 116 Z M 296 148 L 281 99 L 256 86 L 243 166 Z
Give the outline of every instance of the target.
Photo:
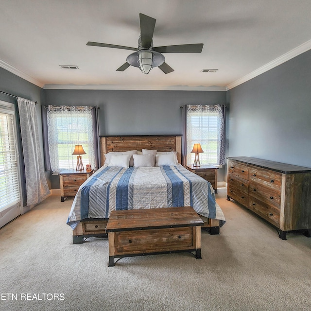
M 311 168 L 253 157 L 228 157 L 227 200 L 275 225 L 279 237 L 303 230 L 311 236 Z

